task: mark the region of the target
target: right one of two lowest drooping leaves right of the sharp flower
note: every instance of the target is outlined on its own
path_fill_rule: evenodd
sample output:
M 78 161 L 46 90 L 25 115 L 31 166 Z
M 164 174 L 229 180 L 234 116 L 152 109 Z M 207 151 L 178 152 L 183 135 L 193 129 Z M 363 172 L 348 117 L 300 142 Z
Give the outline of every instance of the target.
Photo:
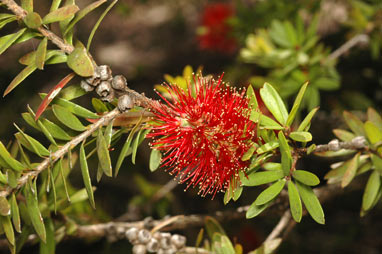
M 297 188 L 300 193 L 302 202 L 304 203 L 306 210 L 308 210 L 310 216 L 319 224 L 325 224 L 325 215 L 322 210 L 320 201 L 314 194 L 312 188 L 309 186 L 297 182 Z

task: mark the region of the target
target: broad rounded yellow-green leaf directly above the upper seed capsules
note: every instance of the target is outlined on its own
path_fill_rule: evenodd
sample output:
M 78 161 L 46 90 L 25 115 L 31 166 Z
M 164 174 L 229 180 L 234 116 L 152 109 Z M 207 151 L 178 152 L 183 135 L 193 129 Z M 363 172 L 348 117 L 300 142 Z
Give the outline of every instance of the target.
M 83 47 L 78 47 L 69 54 L 67 64 L 70 69 L 82 77 L 89 77 L 94 73 L 93 62 Z

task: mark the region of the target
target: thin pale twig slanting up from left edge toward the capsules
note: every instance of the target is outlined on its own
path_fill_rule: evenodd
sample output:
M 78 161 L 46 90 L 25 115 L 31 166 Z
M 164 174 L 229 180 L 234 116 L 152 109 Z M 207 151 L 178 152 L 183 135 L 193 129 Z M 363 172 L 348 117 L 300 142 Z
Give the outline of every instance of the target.
M 78 136 L 74 137 L 71 141 L 66 143 L 64 146 L 62 146 L 60 149 L 58 149 L 56 152 L 52 153 L 49 158 L 46 158 L 43 160 L 33 171 L 29 171 L 28 173 L 25 173 L 20 179 L 18 179 L 18 184 L 16 188 L 7 187 L 6 190 L 0 192 L 0 196 L 6 197 L 8 196 L 12 191 L 20 189 L 22 186 L 26 184 L 28 181 L 28 178 L 30 177 L 36 177 L 38 174 L 40 174 L 42 171 L 44 171 L 46 168 L 49 167 L 49 165 L 56 162 L 58 159 L 60 159 L 62 156 L 64 156 L 70 149 L 73 149 L 75 146 L 77 146 L 79 143 L 81 143 L 83 140 L 85 140 L 87 137 L 89 137 L 93 132 L 98 130 L 99 127 L 108 124 L 111 120 L 113 120 L 116 116 L 120 114 L 120 111 L 118 108 L 115 108 L 114 110 L 110 111 L 106 115 L 102 116 L 100 119 L 98 119 L 97 122 L 94 124 L 89 125 L 88 129 Z

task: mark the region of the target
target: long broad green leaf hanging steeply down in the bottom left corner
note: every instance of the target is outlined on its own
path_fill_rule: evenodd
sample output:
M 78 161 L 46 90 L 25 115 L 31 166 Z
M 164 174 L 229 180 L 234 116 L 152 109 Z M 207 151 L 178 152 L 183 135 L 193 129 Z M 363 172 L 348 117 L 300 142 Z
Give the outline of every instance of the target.
M 32 225 L 36 230 L 37 235 L 40 237 L 41 241 L 46 242 L 45 225 L 44 220 L 41 216 L 40 209 L 38 207 L 37 190 L 31 185 L 33 184 L 28 182 L 25 187 L 25 198 L 27 203 L 28 214 L 32 221 Z

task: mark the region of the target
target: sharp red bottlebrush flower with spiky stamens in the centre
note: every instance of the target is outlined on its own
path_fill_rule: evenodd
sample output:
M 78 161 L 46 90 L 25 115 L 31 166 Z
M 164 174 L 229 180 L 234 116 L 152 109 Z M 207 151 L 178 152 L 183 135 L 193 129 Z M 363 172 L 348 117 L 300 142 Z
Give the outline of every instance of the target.
M 256 126 L 248 118 L 244 91 L 223 87 L 198 77 L 187 91 L 168 85 L 172 101 L 153 104 L 155 124 L 148 137 L 164 152 L 162 165 L 180 182 L 199 186 L 202 196 L 225 191 L 232 178 L 239 180 L 248 162 L 241 157 L 251 147 Z

